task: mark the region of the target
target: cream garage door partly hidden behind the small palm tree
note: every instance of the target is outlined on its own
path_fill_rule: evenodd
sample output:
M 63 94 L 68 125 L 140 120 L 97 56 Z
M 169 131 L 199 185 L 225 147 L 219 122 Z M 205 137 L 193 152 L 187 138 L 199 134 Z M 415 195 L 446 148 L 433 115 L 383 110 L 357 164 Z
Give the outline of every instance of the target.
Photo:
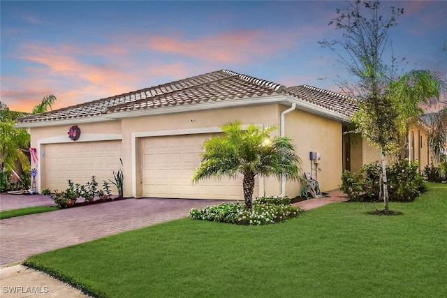
M 193 184 L 203 141 L 210 134 L 145 137 L 142 139 L 142 196 L 243 200 L 242 177 L 206 179 Z M 258 195 L 258 184 L 254 196 Z

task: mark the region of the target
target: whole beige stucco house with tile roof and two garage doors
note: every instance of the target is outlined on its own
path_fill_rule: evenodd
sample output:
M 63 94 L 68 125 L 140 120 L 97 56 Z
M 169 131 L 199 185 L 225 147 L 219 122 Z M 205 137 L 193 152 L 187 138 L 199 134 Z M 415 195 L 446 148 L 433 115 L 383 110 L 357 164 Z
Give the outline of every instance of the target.
M 367 160 L 367 144 L 347 144 L 343 137 L 355 111 L 348 96 L 218 70 L 20 118 L 17 127 L 29 129 L 36 148 L 31 168 L 38 192 L 63 190 L 68 179 L 85 183 L 92 175 L 101 184 L 122 168 L 126 197 L 241 200 L 242 177 L 191 182 L 203 140 L 221 125 L 277 126 L 292 138 L 303 170 L 312 170 L 321 190 L 329 191 L 339 186 L 344 168 Z M 68 135 L 73 126 L 80 135 Z M 317 152 L 315 161 L 309 152 Z M 300 184 L 257 178 L 254 195 L 263 194 L 293 198 Z

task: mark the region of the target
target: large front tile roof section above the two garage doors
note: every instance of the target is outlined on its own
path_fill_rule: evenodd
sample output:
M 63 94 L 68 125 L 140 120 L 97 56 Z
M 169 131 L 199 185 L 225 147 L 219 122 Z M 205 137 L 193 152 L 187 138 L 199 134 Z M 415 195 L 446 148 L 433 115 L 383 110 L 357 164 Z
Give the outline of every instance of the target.
M 285 90 L 286 87 L 280 84 L 256 79 L 249 75 L 241 75 L 230 70 L 219 70 L 156 87 L 30 115 L 17 119 L 17 123 L 81 119 L 100 116 L 109 112 L 141 110 L 168 105 L 183 105 L 185 103 L 193 104 L 207 100 L 246 98 L 284 93 Z

